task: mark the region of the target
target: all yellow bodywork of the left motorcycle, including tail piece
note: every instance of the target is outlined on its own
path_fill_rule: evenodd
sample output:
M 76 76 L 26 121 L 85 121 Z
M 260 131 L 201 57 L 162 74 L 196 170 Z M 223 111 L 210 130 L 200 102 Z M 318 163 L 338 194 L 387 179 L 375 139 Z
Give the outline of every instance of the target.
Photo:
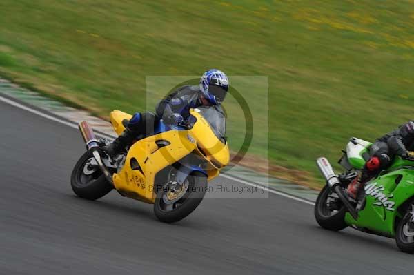
M 204 170 L 208 181 L 219 175 L 219 170 L 228 164 L 228 145 L 221 143 L 210 124 L 197 109 L 190 110 L 197 122 L 190 130 L 170 130 L 137 141 L 130 147 L 124 167 L 112 176 L 115 188 L 124 196 L 146 203 L 154 203 L 156 198 L 155 176 L 165 167 L 177 163 L 192 152 L 206 159 Z M 110 113 L 110 121 L 117 134 L 125 128 L 124 119 L 132 115 L 119 110 Z M 169 145 L 159 147 L 156 141 L 168 141 Z M 164 184 L 164 183 L 163 183 Z

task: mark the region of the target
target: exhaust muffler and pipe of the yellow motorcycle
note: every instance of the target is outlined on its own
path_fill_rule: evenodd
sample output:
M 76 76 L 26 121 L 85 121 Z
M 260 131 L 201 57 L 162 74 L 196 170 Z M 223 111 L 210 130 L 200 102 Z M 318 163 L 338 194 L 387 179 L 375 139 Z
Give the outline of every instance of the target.
M 101 169 L 103 175 L 106 177 L 106 180 L 110 184 L 114 185 L 112 181 L 112 176 L 110 175 L 108 168 L 106 168 L 106 166 L 103 164 L 101 155 L 99 154 L 100 147 L 98 145 L 98 140 L 95 136 L 95 133 L 92 130 L 92 127 L 90 127 L 88 121 L 79 122 L 79 131 L 81 131 L 83 141 L 85 141 L 86 150 L 92 152 L 92 155 L 97 161 L 99 169 Z

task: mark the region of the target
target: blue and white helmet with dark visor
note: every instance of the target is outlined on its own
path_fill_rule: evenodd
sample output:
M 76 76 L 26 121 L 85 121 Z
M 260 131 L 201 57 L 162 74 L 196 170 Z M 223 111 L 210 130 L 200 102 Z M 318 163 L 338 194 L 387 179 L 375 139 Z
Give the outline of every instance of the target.
M 228 85 L 228 78 L 224 72 L 211 69 L 204 72 L 200 79 L 199 89 L 210 103 L 220 105 L 226 97 Z

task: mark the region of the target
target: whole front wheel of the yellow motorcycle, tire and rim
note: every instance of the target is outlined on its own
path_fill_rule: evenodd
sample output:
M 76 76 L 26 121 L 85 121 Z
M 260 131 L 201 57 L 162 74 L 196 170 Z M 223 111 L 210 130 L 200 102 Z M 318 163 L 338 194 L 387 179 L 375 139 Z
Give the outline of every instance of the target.
M 154 203 L 155 216 L 164 223 L 175 223 L 188 216 L 201 203 L 206 194 L 207 177 L 193 172 L 179 186 L 167 183 L 159 188 Z

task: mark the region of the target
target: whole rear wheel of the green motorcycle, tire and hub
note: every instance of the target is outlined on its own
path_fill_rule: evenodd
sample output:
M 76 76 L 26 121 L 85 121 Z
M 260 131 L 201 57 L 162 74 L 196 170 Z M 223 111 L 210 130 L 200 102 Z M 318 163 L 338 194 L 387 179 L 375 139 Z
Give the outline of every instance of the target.
M 345 223 L 346 207 L 328 185 L 319 193 L 314 213 L 317 223 L 326 230 L 339 231 L 348 227 Z

